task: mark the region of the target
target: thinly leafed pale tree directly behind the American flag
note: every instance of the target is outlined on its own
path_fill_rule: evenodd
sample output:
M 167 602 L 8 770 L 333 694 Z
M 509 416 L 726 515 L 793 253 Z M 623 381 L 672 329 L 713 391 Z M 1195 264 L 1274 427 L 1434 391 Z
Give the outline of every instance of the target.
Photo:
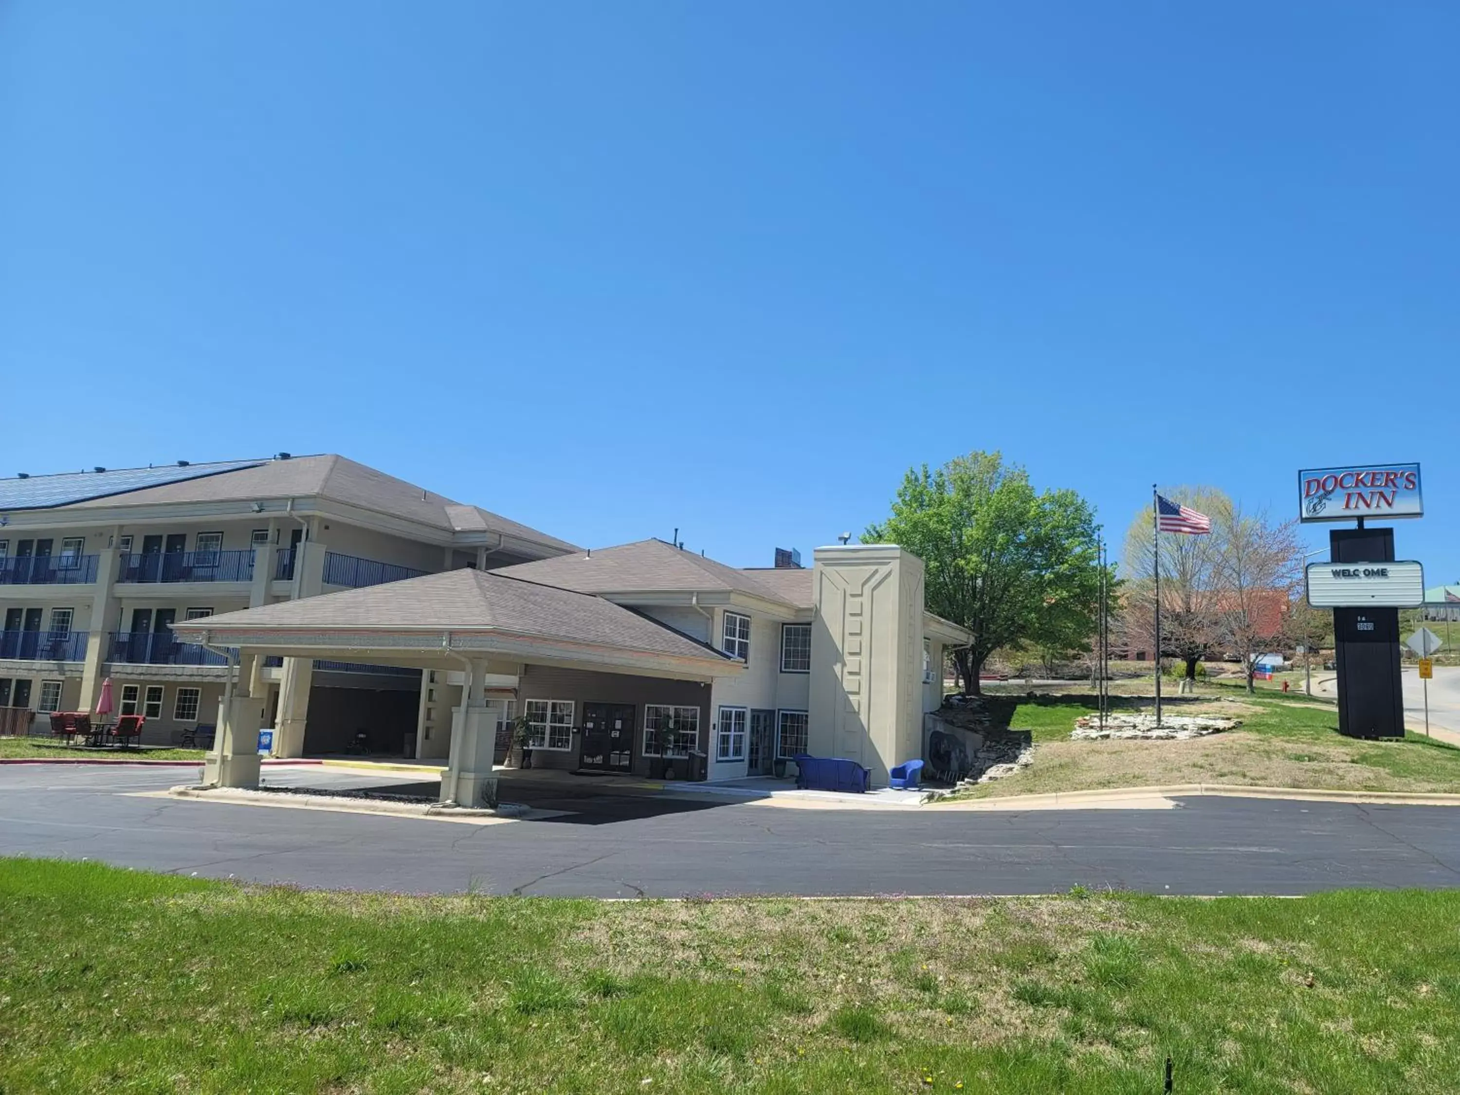
M 1232 499 L 1213 486 L 1178 486 L 1165 493 L 1181 505 L 1209 515 L 1213 530 L 1231 514 Z M 1161 650 L 1156 650 L 1155 529 L 1150 507 L 1143 507 L 1126 531 L 1126 597 L 1121 631 L 1132 647 L 1145 647 L 1156 660 L 1178 657 L 1187 680 L 1196 682 L 1196 667 L 1221 653 L 1221 537 L 1161 537 Z

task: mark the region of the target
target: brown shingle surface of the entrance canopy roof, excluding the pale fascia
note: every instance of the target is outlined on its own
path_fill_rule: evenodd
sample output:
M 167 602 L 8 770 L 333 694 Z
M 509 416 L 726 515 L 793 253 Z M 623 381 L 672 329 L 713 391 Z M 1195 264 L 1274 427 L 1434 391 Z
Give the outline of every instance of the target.
M 619 604 L 571 590 L 504 577 L 498 571 L 445 571 L 420 578 L 327 593 L 320 597 L 225 612 L 180 622 L 193 631 L 482 631 L 588 642 L 619 650 L 730 660 L 695 639 Z

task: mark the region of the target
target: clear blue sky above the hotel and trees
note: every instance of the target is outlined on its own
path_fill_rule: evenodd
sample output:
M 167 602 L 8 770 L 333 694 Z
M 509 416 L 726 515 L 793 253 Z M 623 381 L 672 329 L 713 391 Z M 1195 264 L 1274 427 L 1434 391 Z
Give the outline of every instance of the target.
M 771 562 L 999 448 L 1115 537 L 1419 460 L 1453 3 L 0 6 L 0 472 L 339 451 Z M 1318 534 L 1313 536 L 1320 543 Z

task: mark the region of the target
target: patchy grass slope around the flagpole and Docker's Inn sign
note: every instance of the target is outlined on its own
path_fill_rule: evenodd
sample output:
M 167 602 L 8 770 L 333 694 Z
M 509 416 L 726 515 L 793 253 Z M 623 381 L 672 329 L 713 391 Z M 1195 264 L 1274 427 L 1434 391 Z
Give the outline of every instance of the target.
M 1460 793 L 1460 749 L 1415 733 L 1390 742 L 1342 737 L 1337 710 L 1320 701 L 1212 685 L 1199 702 L 1171 702 L 1167 711 L 1228 714 L 1241 729 L 1190 742 L 1072 742 L 1075 720 L 1095 708 L 1076 696 L 1044 699 L 1019 704 L 1012 720 L 1032 731 L 1034 764 L 958 799 L 1184 783 Z

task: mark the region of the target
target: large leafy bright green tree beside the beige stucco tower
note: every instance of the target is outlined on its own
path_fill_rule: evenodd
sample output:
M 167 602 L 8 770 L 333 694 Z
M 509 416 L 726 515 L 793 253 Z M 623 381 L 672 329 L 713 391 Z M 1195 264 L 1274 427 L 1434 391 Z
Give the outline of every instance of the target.
M 929 612 L 972 632 L 953 650 L 964 691 L 1000 647 L 1075 654 L 1095 631 L 1098 529 L 1073 491 L 1037 493 L 999 453 L 969 453 L 930 472 L 910 469 L 892 515 L 863 543 L 896 543 L 923 559 Z

